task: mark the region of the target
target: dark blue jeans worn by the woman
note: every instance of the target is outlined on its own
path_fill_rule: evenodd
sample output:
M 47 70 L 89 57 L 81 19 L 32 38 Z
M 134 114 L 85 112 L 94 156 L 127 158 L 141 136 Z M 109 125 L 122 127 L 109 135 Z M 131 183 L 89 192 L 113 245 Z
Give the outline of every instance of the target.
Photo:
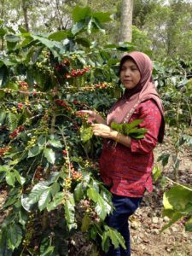
M 125 239 L 125 247 L 114 248 L 113 245 L 109 248 L 106 256 L 130 256 L 131 255 L 131 244 L 130 244 L 130 231 L 128 218 L 137 210 L 142 197 L 126 197 L 121 195 L 113 195 L 112 198 L 113 213 L 106 218 L 106 223 L 108 226 L 113 227 L 118 230 L 119 233 Z

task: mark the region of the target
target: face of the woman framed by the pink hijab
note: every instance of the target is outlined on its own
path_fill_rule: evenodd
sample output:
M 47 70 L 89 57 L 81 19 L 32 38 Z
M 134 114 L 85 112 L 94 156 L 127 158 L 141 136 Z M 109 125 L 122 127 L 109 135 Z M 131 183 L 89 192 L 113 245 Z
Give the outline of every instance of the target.
M 125 88 L 130 90 L 139 83 L 141 74 L 134 61 L 127 60 L 123 63 L 120 70 L 120 81 L 124 84 Z

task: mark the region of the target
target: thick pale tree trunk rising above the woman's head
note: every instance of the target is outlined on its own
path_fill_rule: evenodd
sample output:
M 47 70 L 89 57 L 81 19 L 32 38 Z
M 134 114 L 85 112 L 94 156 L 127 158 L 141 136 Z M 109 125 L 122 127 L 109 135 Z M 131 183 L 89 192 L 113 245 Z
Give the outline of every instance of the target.
M 132 10 L 133 0 L 122 0 L 119 42 L 132 40 Z

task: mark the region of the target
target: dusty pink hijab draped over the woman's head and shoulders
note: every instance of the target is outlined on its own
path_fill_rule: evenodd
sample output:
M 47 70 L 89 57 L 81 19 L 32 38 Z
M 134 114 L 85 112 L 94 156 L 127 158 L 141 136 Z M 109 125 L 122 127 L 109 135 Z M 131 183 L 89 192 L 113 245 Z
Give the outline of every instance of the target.
M 134 51 L 123 56 L 120 61 L 120 68 L 122 67 L 123 63 L 130 58 L 137 64 L 141 74 L 141 79 L 136 87 L 131 90 L 126 89 L 125 94 L 119 99 L 118 102 L 114 103 L 113 107 L 108 113 L 107 123 L 110 125 L 112 122 L 119 124 L 129 122 L 132 113 L 141 102 L 145 102 L 148 99 L 153 99 L 160 109 L 160 113 L 162 115 L 158 137 L 158 141 L 162 143 L 165 131 L 164 111 L 162 102 L 160 101 L 160 96 L 155 90 L 154 83 L 152 82 L 152 62 L 148 55 L 145 55 L 142 52 Z

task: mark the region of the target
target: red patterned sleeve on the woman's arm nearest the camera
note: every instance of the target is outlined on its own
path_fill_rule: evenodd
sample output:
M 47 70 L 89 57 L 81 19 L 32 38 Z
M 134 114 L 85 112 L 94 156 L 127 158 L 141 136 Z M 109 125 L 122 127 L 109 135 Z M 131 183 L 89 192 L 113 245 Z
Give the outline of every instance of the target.
M 153 100 L 141 103 L 137 110 L 137 119 L 143 119 L 139 127 L 146 128 L 148 131 L 143 139 L 131 138 L 131 152 L 148 154 L 157 143 L 162 117 L 159 108 Z

